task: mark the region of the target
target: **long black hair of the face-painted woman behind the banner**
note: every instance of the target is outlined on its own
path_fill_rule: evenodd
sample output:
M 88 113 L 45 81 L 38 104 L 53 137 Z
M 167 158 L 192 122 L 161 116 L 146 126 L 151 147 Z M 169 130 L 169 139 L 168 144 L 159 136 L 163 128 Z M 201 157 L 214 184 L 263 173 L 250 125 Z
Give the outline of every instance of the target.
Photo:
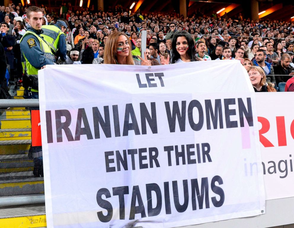
M 175 63 L 178 59 L 180 59 L 180 54 L 178 53 L 177 49 L 176 49 L 176 43 L 177 43 L 177 39 L 178 37 L 185 37 L 188 41 L 188 50 L 187 53 L 191 58 L 191 62 L 192 61 L 199 61 L 199 59 L 196 57 L 196 50 L 195 50 L 195 43 L 194 43 L 194 39 L 192 38 L 192 35 L 189 34 L 186 31 L 181 31 L 179 33 L 177 33 L 174 38 L 172 39 L 172 61 L 171 63 Z

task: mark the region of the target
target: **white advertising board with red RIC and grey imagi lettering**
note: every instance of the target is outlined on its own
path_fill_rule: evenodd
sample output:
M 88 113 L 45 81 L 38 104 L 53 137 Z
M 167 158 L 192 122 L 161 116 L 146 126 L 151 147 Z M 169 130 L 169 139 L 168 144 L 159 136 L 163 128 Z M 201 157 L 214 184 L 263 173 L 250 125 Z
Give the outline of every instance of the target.
M 257 93 L 266 200 L 293 197 L 294 115 L 293 93 Z M 248 175 L 256 171 L 247 163 Z

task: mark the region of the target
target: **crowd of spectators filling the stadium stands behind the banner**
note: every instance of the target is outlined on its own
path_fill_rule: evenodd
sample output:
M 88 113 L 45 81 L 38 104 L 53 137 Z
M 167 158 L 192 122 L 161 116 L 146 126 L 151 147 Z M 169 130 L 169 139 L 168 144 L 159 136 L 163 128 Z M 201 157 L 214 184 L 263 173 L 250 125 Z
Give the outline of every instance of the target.
M 23 76 L 20 40 L 30 25 L 22 4 L 10 1 L 0 8 L 1 64 L 8 66 L 6 72 L 1 70 L 0 98 L 7 98 L 7 81 Z M 286 83 L 286 91 L 294 91 L 293 21 L 253 21 L 241 13 L 235 18 L 226 13 L 218 17 L 200 10 L 189 17 L 129 14 L 121 6 L 102 11 L 94 6 L 73 9 L 70 3 L 64 3 L 59 12 L 48 13 L 44 6 L 41 11 L 42 30 L 55 25 L 55 30 L 64 32 L 52 50 L 55 64 L 162 65 L 237 59 L 247 69 L 255 91 L 276 91 L 279 83 Z M 145 59 L 141 58 L 143 30 L 147 31 Z M 27 42 L 33 47 L 32 41 Z

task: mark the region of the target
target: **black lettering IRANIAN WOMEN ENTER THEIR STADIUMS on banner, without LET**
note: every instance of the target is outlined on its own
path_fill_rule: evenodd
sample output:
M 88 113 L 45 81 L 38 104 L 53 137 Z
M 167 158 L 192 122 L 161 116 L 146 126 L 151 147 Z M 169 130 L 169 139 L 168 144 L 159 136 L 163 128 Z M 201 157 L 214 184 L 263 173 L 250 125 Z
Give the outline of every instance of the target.
M 213 103 L 215 104 L 214 107 Z M 99 140 L 101 134 L 104 134 L 106 138 L 127 137 L 130 131 L 133 131 L 135 135 L 147 134 L 147 125 L 152 134 L 157 134 L 157 115 L 159 113 L 156 113 L 156 106 L 158 105 L 164 105 L 166 113 L 160 113 L 160 115 L 165 115 L 170 132 L 175 132 L 176 125 L 178 125 L 181 132 L 186 131 L 186 126 L 190 126 L 194 131 L 244 127 L 245 119 L 249 126 L 253 126 L 250 98 L 247 98 L 246 101 L 241 98 L 228 98 L 204 100 L 202 102 L 195 99 L 180 102 L 167 101 L 161 104 L 142 102 L 139 104 L 140 109 L 137 112 L 135 112 L 133 104 L 130 103 L 123 106 L 92 107 L 92 112 L 90 113 L 86 112 L 84 108 L 79 108 L 75 110 L 77 114 L 75 114 L 74 118 L 69 110 L 54 110 L 55 115 L 52 115 L 52 110 L 47 110 L 47 141 L 48 143 L 62 143 L 64 140 L 78 141 L 81 135 L 86 135 L 87 140 Z M 234 121 L 231 121 L 231 118 L 236 116 L 236 109 L 230 108 L 230 105 L 235 105 L 238 109 L 239 117 L 235 118 L 236 120 Z M 195 115 L 193 115 L 195 111 L 197 112 L 196 116 L 198 116 L 196 122 L 194 120 Z M 124 116 L 119 116 L 119 113 L 124 113 Z M 93 122 L 89 122 L 88 117 L 90 115 L 92 115 L 90 119 Z M 55 116 L 54 120 L 52 120 L 52 116 Z M 225 117 L 224 119 L 223 116 Z M 72 132 L 69 127 L 72 119 L 77 119 L 75 132 Z M 55 121 L 56 131 L 52 129 L 52 121 Z M 120 121 L 123 121 L 123 125 L 120 125 Z M 141 127 L 139 127 L 138 121 L 140 121 Z M 186 125 L 187 121 L 189 125 Z M 82 122 L 84 127 L 82 127 Z M 90 125 L 92 125 L 94 131 L 91 130 Z M 121 128 L 120 126 L 123 127 Z M 63 138 L 62 131 L 64 131 L 66 139 Z M 53 138 L 56 139 L 56 142 L 53 142 Z M 132 170 L 160 167 L 157 159 L 160 150 L 166 153 L 168 166 L 179 165 L 180 163 L 189 165 L 212 162 L 213 159 L 209 154 L 209 143 L 167 145 L 164 148 L 126 148 L 122 151 L 105 151 L 106 172 L 127 170 L 128 162 L 132 164 Z M 172 164 L 172 156 L 176 157 L 175 164 Z M 135 166 L 136 159 L 139 161 L 139 167 Z M 178 184 L 183 186 L 183 192 L 185 193 L 182 204 L 179 202 Z M 112 189 L 101 188 L 97 192 L 97 203 L 101 208 L 107 210 L 107 214 L 98 211 L 98 219 L 102 222 L 109 222 L 112 219 L 114 209 L 107 200 L 110 197 L 116 197 L 119 203 L 119 218 L 125 219 L 124 196 L 128 194 L 131 195 L 131 206 L 127 210 L 130 211 L 128 219 L 134 219 L 135 214 L 141 214 L 142 218 L 156 216 L 162 210 L 165 210 L 166 214 L 171 214 L 171 198 L 173 198 L 172 202 L 174 202 L 174 207 L 178 212 L 184 212 L 189 202 L 191 202 L 193 210 L 197 208 L 203 209 L 204 207 L 210 208 L 211 206 L 220 207 L 225 200 L 225 193 L 221 188 L 222 184 L 223 180 L 218 175 L 212 177 L 211 180 L 204 177 L 183 180 L 183 183 L 178 183 L 177 181 L 164 182 L 162 189 L 157 183 L 148 183 L 144 187 L 147 199 L 142 198 L 140 192 L 143 190 L 139 186 L 133 186 L 132 188 L 129 188 L 129 186 L 118 186 Z M 190 191 L 188 188 L 190 188 Z M 170 195 L 170 189 L 172 189 L 173 195 Z M 152 194 L 152 192 L 155 194 Z M 188 192 L 191 192 L 190 196 Z M 211 192 L 213 195 L 211 195 Z M 155 207 L 152 205 L 152 201 L 154 201 L 152 197 L 156 197 L 155 202 L 157 203 Z M 163 199 L 164 205 L 162 205 Z M 147 202 L 147 208 L 145 208 L 146 205 L 144 206 L 143 202 Z

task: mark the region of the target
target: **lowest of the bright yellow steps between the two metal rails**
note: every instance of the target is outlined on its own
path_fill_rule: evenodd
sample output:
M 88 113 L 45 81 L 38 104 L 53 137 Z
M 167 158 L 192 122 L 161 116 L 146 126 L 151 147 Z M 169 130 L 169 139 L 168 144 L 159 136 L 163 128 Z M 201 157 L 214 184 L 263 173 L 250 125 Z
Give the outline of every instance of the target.
M 30 140 L 31 129 L 0 129 L 0 140 Z

